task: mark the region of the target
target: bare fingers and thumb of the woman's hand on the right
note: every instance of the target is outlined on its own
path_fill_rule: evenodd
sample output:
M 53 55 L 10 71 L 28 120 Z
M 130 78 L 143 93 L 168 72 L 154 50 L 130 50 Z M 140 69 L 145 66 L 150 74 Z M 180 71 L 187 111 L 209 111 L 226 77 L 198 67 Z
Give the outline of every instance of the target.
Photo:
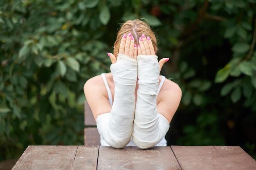
M 155 49 L 153 47 L 152 41 L 149 37 L 146 38 L 144 34 L 142 34 L 141 38 L 139 38 L 139 46 L 138 46 L 138 55 L 155 55 Z M 162 66 L 165 62 L 167 62 L 168 58 L 162 58 L 159 60 L 159 70 L 161 71 Z

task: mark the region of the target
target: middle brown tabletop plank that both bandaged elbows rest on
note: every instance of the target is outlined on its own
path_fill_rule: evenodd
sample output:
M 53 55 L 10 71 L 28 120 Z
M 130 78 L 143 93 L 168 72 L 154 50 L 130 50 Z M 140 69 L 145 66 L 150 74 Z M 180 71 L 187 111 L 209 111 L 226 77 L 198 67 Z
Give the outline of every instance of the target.
M 98 170 L 181 170 L 169 146 L 141 150 L 100 146 Z

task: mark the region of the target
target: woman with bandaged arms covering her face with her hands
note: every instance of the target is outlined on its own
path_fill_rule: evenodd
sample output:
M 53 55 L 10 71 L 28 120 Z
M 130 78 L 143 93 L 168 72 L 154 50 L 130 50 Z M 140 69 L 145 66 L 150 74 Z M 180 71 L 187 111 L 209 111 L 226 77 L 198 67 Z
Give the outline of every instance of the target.
M 148 24 L 122 24 L 114 44 L 111 73 L 92 77 L 84 93 L 101 135 L 101 145 L 141 149 L 166 146 L 165 135 L 182 96 L 180 87 L 159 76 L 168 58 L 157 61 L 157 40 Z

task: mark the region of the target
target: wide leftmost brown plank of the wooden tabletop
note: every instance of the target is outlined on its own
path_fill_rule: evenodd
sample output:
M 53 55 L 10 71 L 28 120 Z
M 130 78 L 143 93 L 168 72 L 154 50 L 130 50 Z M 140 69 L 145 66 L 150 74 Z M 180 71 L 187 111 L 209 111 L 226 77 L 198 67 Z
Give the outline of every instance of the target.
M 77 146 L 28 146 L 12 170 L 70 170 Z

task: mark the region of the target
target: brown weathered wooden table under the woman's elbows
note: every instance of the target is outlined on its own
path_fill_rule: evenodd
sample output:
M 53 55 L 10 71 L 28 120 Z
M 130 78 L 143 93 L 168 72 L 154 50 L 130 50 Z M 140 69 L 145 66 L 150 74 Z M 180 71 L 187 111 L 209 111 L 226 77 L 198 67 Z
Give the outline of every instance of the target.
M 12 170 L 256 170 L 239 146 L 28 146 Z

